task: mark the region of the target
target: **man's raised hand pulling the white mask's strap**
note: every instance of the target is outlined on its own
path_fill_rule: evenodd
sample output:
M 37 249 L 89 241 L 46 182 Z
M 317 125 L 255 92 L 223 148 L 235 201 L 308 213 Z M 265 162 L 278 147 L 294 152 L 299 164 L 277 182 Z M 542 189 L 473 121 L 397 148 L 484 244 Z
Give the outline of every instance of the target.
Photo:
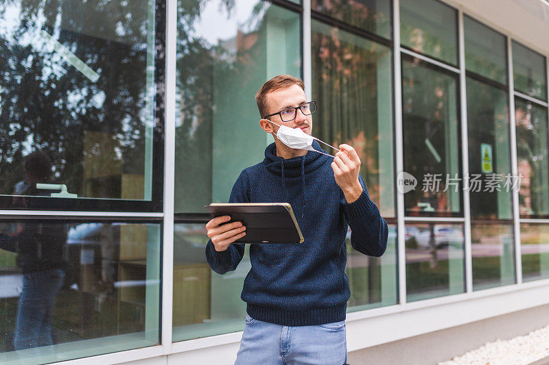
M 331 163 L 331 168 L 334 170 L 336 183 L 343 190 L 347 203 L 353 203 L 360 194 L 362 194 L 362 186 L 358 181 L 358 173 L 360 173 L 360 158 L 349 144 L 340 144 L 340 150 L 336 153 L 334 162 Z

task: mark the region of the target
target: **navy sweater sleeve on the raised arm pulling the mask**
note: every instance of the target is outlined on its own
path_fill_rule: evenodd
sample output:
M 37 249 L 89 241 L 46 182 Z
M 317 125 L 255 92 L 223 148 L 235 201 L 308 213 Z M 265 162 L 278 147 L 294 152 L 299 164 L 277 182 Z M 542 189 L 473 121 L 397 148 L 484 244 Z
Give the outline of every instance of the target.
M 379 257 L 387 248 L 387 222 L 379 214 L 379 209 L 371 201 L 364 179 L 359 175 L 362 194 L 353 203 L 343 197 L 343 212 L 351 227 L 351 245 L 364 255 Z

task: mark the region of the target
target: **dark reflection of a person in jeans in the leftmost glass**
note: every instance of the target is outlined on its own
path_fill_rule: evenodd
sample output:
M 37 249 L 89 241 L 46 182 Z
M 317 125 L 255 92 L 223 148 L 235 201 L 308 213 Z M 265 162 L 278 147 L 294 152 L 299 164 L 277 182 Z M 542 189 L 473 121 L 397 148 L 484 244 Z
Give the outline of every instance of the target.
M 25 180 L 15 186 L 16 195 L 49 194 L 36 184 L 49 181 L 51 163 L 47 155 L 34 152 L 25 157 Z M 67 234 L 59 225 L 23 221 L 0 234 L 0 249 L 17 253 L 23 287 L 17 309 L 14 348 L 30 349 L 53 344 L 51 318 L 55 299 L 65 277 Z

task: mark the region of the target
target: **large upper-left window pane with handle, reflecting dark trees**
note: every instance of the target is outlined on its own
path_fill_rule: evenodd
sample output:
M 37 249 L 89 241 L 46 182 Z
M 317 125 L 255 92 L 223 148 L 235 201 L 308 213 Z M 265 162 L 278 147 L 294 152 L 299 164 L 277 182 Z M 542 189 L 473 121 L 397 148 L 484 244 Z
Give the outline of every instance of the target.
M 0 195 L 152 199 L 155 14 L 155 1 L 3 5 Z

